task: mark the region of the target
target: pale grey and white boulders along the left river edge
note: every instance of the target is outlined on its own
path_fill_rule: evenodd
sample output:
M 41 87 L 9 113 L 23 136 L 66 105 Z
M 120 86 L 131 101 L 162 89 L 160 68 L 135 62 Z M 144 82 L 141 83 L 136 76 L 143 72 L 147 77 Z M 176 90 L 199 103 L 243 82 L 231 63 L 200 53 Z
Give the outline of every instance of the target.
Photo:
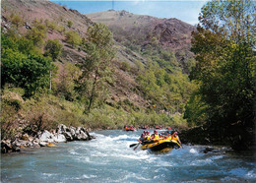
M 1 152 L 21 152 L 25 148 L 52 147 L 54 143 L 67 143 L 71 141 L 90 141 L 95 139 L 83 127 L 66 127 L 63 124 L 58 125 L 56 130 L 51 132 L 39 131 L 35 136 L 23 134 L 15 140 L 2 140 Z

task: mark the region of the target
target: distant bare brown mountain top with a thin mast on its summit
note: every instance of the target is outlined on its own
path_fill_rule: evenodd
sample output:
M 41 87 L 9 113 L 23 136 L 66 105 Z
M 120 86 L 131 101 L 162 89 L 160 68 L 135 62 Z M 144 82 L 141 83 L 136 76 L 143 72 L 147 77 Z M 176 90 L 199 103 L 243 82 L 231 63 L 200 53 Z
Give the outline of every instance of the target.
M 96 23 L 102 23 L 113 31 L 116 41 L 127 41 L 140 46 L 161 46 L 175 54 L 183 70 L 188 73 L 189 62 L 193 58 L 191 32 L 195 27 L 177 19 L 159 19 L 151 16 L 134 15 L 126 11 L 113 11 L 87 14 Z

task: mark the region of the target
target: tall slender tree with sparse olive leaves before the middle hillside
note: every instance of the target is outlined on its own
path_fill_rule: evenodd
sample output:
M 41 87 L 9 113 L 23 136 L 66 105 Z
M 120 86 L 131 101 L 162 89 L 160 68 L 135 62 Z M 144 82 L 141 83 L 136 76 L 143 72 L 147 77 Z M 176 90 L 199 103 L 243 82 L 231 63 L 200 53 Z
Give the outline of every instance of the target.
M 87 57 L 80 65 L 83 73 L 77 81 L 77 90 L 88 98 L 85 111 L 90 112 L 96 97 L 105 96 L 106 84 L 111 82 L 110 64 L 115 53 L 111 31 L 102 24 L 90 27 L 84 49 Z

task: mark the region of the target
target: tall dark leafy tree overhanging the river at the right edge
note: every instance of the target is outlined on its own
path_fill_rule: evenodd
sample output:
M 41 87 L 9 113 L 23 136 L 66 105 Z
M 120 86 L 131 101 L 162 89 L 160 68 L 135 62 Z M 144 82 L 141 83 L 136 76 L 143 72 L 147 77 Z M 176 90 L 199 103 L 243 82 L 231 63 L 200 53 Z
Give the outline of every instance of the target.
M 190 77 L 200 86 L 197 92 L 207 106 L 212 135 L 245 148 L 240 144 L 252 142 L 246 129 L 253 129 L 255 118 L 255 4 L 214 0 L 202 8 L 199 20 L 192 40 L 196 66 Z

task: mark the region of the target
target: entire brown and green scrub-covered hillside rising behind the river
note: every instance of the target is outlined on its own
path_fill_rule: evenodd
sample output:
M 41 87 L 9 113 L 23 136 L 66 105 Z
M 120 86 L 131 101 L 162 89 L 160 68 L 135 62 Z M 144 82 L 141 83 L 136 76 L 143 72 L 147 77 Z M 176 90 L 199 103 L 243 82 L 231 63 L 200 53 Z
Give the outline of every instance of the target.
M 124 11 L 82 15 L 48 0 L 4 0 L 1 5 L 2 51 L 12 56 L 22 55 L 10 61 L 17 61 L 15 66 L 20 67 L 23 65 L 19 65 L 20 58 L 32 59 L 31 55 L 36 55 L 35 59 L 43 58 L 55 67 L 49 84 L 50 72 L 40 66 L 44 72 L 40 76 L 45 82 L 28 94 L 28 89 L 35 90 L 32 87 L 37 86 L 36 80 L 40 78 L 32 80 L 27 75 L 31 71 L 18 73 L 21 78 L 17 80 L 9 78 L 16 71 L 13 66 L 8 68 L 12 71 L 3 70 L 11 57 L 1 55 L 2 74 L 7 78 L 1 89 L 4 101 L 1 122 L 7 126 L 5 133 L 13 132 L 9 127 L 24 129 L 34 123 L 35 126 L 42 123 L 40 128 L 61 122 L 93 129 L 120 128 L 124 124 L 187 126 L 182 116 L 194 88 L 186 74 L 193 62 L 189 51 L 192 26 L 176 19 Z M 118 20 L 122 24 L 117 24 Z M 76 82 L 83 72 L 80 67 L 87 61 L 88 28 L 97 22 L 112 31 L 115 57 L 110 66 L 111 79 L 102 84 L 105 91 L 98 91 L 94 110 L 86 115 L 89 98 L 77 91 Z M 69 41 L 71 33 L 77 42 Z M 46 43 L 54 39 L 62 49 L 56 59 L 48 62 Z

